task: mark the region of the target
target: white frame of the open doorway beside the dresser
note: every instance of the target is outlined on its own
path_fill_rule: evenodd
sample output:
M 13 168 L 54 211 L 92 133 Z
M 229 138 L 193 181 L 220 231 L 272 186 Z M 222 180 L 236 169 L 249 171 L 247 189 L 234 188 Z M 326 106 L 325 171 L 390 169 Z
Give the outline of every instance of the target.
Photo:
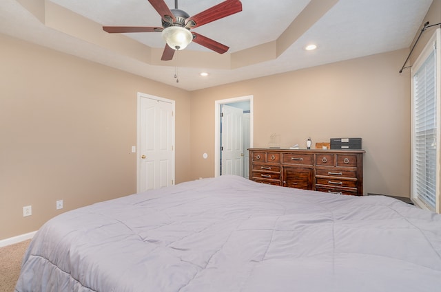
M 249 147 L 253 147 L 254 133 L 254 96 L 241 96 L 214 101 L 214 177 L 220 175 L 220 105 L 249 101 Z

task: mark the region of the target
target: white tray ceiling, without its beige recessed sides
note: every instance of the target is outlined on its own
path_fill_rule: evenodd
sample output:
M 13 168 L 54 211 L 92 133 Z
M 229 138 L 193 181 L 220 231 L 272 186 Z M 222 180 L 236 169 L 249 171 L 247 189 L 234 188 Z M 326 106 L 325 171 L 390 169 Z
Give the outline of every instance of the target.
M 147 0 L 46 1 L 100 25 L 161 26 L 161 17 Z M 222 1 L 179 0 L 178 8 L 191 16 Z M 196 27 L 194 32 L 228 45 L 230 49 L 225 54 L 240 52 L 275 41 L 310 0 L 241 2 L 242 12 Z M 174 0 L 165 0 L 165 3 L 174 8 Z M 210 69 L 209 61 L 202 68 L 178 67 L 178 83 L 173 78 L 175 68 L 170 64 L 150 65 L 46 27 L 16 0 L 0 1 L 0 33 L 191 91 L 408 48 L 431 3 L 432 0 L 340 0 L 274 60 L 238 69 Z M 149 47 L 163 48 L 165 45 L 160 33 L 126 35 Z M 309 43 L 316 43 L 318 49 L 306 52 L 303 47 Z M 185 50 L 209 52 L 196 43 L 191 43 Z M 209 76 L 199 76 L 201 71 L 208 71 Z

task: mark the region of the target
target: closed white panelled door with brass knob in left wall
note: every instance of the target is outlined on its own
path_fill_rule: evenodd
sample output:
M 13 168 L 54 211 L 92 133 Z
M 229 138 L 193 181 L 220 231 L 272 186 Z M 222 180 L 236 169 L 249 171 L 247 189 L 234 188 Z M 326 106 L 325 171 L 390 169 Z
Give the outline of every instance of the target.
M 138 192 L 174 184 L 174 101 L 139 96 Z

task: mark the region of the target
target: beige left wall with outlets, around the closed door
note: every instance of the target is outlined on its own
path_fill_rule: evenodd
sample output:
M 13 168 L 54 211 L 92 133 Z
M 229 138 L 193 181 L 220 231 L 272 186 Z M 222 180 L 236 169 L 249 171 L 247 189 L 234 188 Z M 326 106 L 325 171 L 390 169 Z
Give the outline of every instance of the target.
M 189 92 L 7 36 L 0 43 L 0 239 L 136 192 L 137 92 L 176 100 L 176 182 L 189 180 Z

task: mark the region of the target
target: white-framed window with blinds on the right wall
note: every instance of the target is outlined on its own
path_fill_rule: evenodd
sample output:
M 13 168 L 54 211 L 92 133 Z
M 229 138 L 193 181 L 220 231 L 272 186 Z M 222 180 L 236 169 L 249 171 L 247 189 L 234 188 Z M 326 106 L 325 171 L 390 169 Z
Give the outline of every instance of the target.
M 412 74 L 411 197 L 420 207 L 440 212 L 440 29 L 422 51 Z

